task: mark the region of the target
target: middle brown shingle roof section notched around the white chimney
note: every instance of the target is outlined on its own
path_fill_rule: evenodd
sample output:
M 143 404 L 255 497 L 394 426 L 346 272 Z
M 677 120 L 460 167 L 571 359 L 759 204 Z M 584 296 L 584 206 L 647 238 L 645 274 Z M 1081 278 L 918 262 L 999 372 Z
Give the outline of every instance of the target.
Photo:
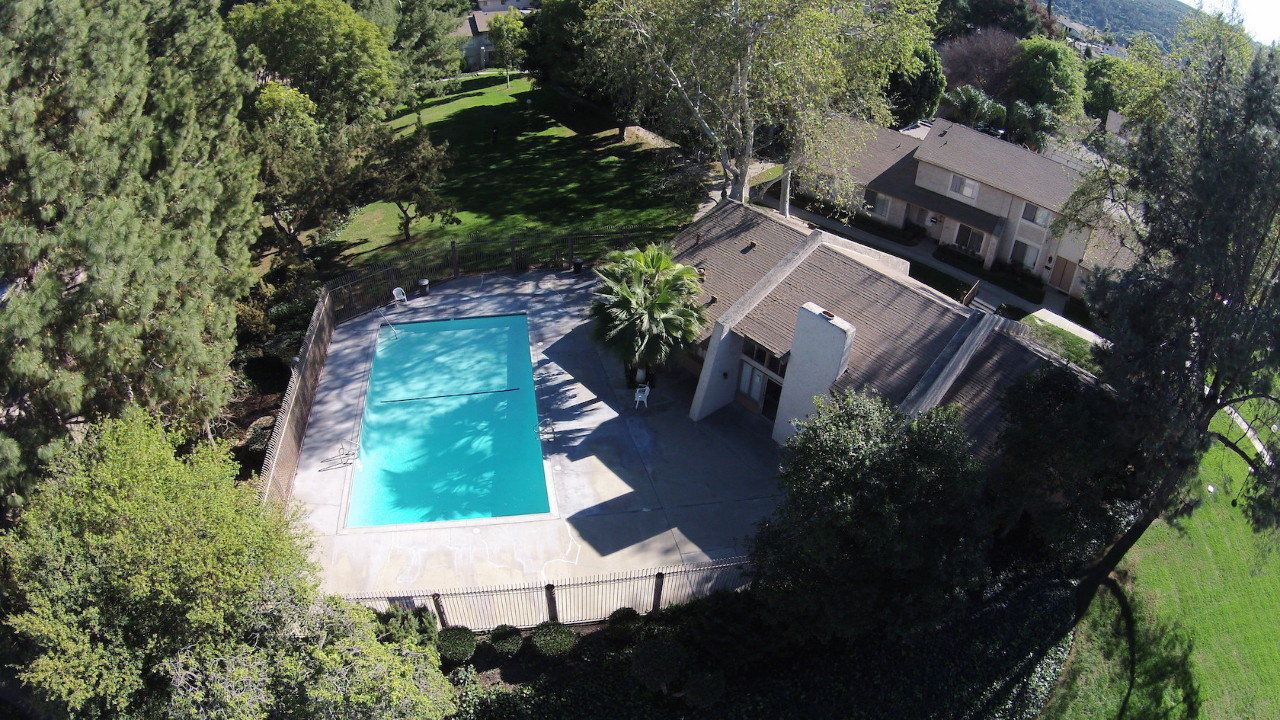
M 972 313 L 819 245 L 735 332 L 774 355 L 791 348 L 796 313 L 817 302 L 854 325 L 846 380 L 899 404 Z

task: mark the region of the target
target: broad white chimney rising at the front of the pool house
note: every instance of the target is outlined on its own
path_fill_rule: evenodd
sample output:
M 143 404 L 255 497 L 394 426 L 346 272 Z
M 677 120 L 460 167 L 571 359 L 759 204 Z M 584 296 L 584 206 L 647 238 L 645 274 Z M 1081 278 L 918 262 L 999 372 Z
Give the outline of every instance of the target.
M 787 379 L 778 400 L 773 423 L 773 439 L 778 443 L 795 434 L 792 420 L 813 413 L 814 396 L 827 395 L 832 383 L 849 365 L 854 351 L 854 327 L 813 302 L 805 302 L 796 314 L 795 340 Z M 701 389 L 701 382 L 699 382 Z M 695 398 L 696 404 L 696 398 Z

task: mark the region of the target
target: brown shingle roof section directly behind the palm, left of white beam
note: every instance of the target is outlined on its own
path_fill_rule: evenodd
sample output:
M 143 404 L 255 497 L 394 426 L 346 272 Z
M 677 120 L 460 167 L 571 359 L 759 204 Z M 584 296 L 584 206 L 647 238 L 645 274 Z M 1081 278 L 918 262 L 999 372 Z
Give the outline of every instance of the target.
M 714 322 L 808 236 L 803 225 L 726 201 L 681 231 L 672 245 L 677 263 L 707 270 L 701 302 Z

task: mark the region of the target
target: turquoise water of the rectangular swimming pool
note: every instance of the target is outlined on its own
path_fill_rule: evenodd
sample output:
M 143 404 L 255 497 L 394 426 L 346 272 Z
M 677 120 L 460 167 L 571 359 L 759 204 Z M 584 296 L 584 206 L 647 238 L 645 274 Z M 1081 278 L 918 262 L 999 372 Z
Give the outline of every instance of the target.
M 525 315 L 383 325 L 347 527 L 549 511 Z

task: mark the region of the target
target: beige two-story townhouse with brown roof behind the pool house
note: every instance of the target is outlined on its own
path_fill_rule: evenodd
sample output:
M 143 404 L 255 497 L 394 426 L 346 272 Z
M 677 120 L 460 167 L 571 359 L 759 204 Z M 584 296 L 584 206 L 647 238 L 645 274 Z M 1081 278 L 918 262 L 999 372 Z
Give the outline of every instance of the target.
M 1128 261 L 1093 228 L 1051 231 L 1079 170 L 965 126 L 870 128 L 842 161 L 867 188 L 864 211 L 873 219 L 914 225 L 988 269 L 1005 263 L 1079 297 L 1092 272 Z

